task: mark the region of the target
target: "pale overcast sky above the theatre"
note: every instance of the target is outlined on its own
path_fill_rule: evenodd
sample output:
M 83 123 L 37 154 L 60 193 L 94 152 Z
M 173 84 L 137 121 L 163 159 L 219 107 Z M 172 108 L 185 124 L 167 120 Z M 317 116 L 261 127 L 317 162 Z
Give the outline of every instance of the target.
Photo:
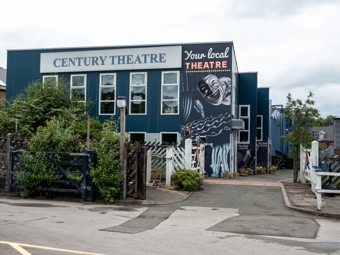
M 0 5 L 8 49 L 233 41 L 239 72 L 257 71 L 272 104 L 314 93 L 340 116 L 339 0 L 31 0 Z

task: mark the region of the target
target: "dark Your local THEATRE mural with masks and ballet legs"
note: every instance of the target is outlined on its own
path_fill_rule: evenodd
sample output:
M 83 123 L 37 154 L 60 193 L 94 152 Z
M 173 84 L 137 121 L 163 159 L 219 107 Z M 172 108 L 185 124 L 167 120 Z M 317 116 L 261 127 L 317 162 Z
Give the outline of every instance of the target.
M 232 44 L 183 45 L 181 142 L 212 144 L 205 171 L 229 171 Z

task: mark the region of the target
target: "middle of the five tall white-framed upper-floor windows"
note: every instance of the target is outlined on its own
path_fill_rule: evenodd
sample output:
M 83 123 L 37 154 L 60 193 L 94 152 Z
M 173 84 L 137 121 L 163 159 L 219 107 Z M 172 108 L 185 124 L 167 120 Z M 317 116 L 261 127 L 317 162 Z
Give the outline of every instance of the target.
M 99 115 L 116 114 L 116 73 L 101 73 L 99 78 Z

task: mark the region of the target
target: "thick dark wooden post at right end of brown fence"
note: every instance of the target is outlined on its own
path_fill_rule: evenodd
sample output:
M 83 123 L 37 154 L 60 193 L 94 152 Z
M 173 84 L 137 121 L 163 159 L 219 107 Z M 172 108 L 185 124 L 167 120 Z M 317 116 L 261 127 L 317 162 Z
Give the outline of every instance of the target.
M 148 148 L 142 146 L 139 148 L 139 167 L 138 174 L 136 177 L 137 184 L 137 195 L 136 199 L 146 200 L 146 169 L 147 169 L 147 158 Z M 137 164 L 137 162 L 136 162 Z

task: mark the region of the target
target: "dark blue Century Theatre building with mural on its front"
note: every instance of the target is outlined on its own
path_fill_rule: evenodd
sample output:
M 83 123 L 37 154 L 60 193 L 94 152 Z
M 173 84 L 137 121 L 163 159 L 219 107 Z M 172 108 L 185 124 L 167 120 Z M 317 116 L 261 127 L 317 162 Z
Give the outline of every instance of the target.
M 132 140 L 212 143 L 209 176 L 268 166 L 269 88 L 257 87 L 257 72 L 238 72 L 233 42 L 8 50 L 6 99 L 51 76 L 95 100 L 90 115 L 101 121 L 119 119 L 125 96 Z

